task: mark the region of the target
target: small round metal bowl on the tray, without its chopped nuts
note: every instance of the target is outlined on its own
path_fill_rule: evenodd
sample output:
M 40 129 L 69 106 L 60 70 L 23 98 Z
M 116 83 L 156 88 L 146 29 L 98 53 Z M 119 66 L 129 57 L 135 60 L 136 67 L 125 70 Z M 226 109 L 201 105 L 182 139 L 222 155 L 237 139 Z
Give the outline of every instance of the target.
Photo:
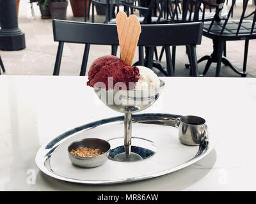
M 88 147 L 91 149 L 100 149 L 104 154 L 100 154 L 99 156 L 94 157 L 79 157 L 74 156 L 70 153 L 72 149 Z M 110 151 L 110 144 L 106 140 L 101 140 L 98 138 L 86 138 L 83 140 L 77 140 L 76 142 L 72 142 L 68 146 L 68 157 L 70 161 L 83 168 L 93 168 L 104 164 L 108 160 Z

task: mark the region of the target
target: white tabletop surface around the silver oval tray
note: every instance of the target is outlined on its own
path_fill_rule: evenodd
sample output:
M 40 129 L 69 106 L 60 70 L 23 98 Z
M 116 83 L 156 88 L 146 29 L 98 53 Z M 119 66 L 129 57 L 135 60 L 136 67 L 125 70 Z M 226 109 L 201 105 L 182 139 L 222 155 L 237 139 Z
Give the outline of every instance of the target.
M 256 78 L 162 78 L 164 92 L 141 113 L 198 115 L 218 145 L 204 159 L 155 179 L 111 186 L 71 184 L 35 164 L 40 146 L 82 124 L 121 115 L 87 77 L 0 77 L 0 191 L 255 191 Z

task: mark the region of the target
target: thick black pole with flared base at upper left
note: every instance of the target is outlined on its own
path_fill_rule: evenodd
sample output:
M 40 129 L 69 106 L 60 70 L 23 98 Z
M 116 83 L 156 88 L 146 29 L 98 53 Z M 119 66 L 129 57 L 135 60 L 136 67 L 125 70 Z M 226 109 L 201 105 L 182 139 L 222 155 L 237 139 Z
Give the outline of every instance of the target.
M 0 19 L 0 50 L 24 49 L 25 34 L 18 27 L 15 0 L 0 0 Z

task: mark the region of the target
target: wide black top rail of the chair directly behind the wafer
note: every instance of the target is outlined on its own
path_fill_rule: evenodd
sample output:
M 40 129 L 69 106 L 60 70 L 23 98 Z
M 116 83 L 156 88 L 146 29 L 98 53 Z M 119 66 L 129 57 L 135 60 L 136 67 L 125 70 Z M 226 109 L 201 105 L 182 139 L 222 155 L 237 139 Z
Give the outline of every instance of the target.
M 54 41 L 118 45 L 116 25 L 53 20 Z M 188 34 L 189 33 L 189 34 Z M 200 45 L 202 23 L 141 25 L 138 45 Z

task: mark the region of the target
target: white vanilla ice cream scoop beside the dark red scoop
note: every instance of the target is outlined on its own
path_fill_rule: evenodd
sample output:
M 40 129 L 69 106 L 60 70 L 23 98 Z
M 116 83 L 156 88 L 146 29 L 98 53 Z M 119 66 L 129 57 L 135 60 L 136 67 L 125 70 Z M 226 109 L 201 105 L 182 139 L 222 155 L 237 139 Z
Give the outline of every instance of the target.
M 136 82 L 135 90 L 157 89 L 160 85 L 160 80 L 152 69 L 145 66 L 136 66 L 140 70 L 140 78 Z

